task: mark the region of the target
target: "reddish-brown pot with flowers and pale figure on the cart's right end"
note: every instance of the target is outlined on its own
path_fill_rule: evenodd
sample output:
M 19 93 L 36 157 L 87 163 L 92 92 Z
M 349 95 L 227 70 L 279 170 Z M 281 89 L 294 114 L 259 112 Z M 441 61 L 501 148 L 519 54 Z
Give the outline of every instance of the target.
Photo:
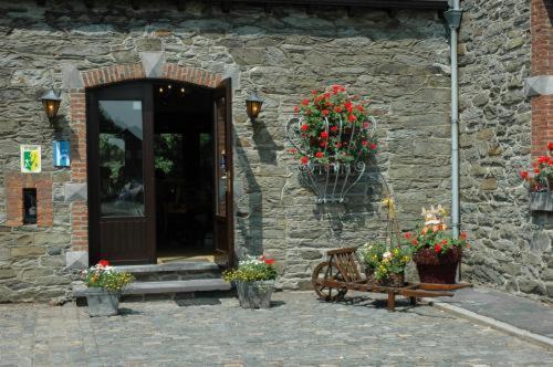
M 403 239 L 405 244 L 411 245 L 420 282 L 455 284 L 462 249 L 470 248 L 467 234 L 461 233 L 458 239 L 452 237 L 444 223 L 441 206 L 429 210 L 422 208 L 422 216 L 425 226 L 414 233 L 405 233 Z

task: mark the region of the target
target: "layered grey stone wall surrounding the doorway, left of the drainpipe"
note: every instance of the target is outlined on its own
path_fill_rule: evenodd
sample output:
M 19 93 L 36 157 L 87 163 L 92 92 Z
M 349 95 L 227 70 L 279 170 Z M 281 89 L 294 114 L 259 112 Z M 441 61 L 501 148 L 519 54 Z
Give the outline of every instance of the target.
M 160 3 L 160 4 L 159 4 Z M 0 211 L 6 220 L 6 175 L 19 170 L 19 144 L 41 144 L 43 170 L 53 181 L 51 227 L 2 227 L 0 302 L 61 295 L 71 275 L 71 207 L 63 185 L 71 171 L 54 169 L 51 143 L 73 129 L 64 91 L 58 126 L 39 97 L 62 86 L 62 71 L 134 64 L 140 52 L 233 78 L 236 242 L 239 252 L 264 251 L 282 274 L 279 286 L 309 286 L 326 249 L 358 245 L 385 234 L 383 189 L 367 177 L 348 205 L 315 206 L 298 181 L 284 126 L 314 87 L 344 84 L 371 97 L 378 119 L 379 154 L 372 167 L 395 192 L 405 229 L 420 206 L 449 202 L 449 74 L 447 33 L 436 11 L 233 7 L 127 1 L 109 8 L 81 1 L 0 1 Z M 244 99 L 258 88 L 263 112 L 251 123 Z M 82 210 L 81 210 L 82 211 Z

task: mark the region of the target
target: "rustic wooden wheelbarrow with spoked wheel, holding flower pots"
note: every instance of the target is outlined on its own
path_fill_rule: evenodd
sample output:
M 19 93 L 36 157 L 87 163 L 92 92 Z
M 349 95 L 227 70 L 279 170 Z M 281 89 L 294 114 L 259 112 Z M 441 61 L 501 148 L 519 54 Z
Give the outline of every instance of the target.
M 345 248 L 327 251 L 328 260 L 320 263 L 313 270 L 312 283 L 319 296 L 325 301 L 337 301 L 344 297 L 348 290 L 387 293 L 388 311 L 394 311 L 396 295 L 408 297 L 411 305 L 417 304 L 417 298 L 452 296 L 446 292 L 470 286 L 470 284 L 428 284 L 406 283 L 405 286 L 383 286 L 368 284 L 359 274 L 356 248 Z

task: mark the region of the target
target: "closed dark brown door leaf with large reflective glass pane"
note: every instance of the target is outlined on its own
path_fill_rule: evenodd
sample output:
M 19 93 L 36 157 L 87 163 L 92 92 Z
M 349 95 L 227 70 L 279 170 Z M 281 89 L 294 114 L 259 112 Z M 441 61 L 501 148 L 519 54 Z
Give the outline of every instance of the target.
M 149 83 L 87 92 L 91 263 L 153 263 L 154 105 Z

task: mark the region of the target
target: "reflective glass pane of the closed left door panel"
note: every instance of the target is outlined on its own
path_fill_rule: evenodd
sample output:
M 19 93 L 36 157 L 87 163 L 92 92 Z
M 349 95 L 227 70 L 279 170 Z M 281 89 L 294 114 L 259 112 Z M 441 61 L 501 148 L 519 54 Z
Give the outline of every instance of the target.
M 140 101 L 100 101 L 102 217 L 144 217 Z

